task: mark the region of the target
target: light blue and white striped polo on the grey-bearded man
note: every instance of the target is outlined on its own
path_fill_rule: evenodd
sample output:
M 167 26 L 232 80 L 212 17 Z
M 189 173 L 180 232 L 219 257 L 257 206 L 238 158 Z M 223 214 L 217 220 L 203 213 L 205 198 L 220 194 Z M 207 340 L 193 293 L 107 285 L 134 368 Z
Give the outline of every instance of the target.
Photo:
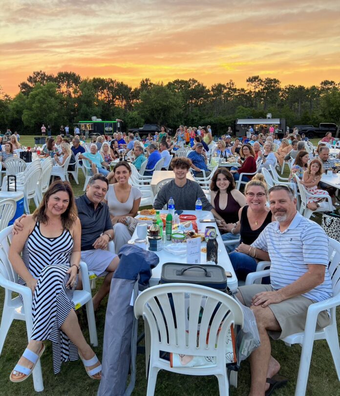
M 279 223 L 273 221 L 261 232 L 252 246 L 269 253 L 272 265 L 270 279 L 278 290 L 297 281 L 308 271 L 308 264 L 326 266 L 321 285 L 302 294 L 313 301 L 323 301 L 333 295 L 328 273 L 328 238 L 314 221 L 305 219 L 298 212 L 283 232 Z

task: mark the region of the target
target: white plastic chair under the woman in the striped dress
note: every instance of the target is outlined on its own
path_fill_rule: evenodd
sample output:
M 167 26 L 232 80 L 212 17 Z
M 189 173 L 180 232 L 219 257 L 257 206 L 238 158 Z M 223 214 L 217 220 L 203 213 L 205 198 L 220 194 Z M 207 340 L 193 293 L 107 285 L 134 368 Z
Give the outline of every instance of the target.
M 14 271 L 8 260 L 10 241 L 12 240 L 12 228 L 7 227 L 0 232 L 0 286 L 5 289 L 5 298 L 0 324 L 0 354 L 5 342 L 6 335 L 14 319 L 26 322 L 27 338 L 30 340 L 33 320 L 32 320 L 32 291 L 27 286 L 18 284 L 18 275 Z M 90 283 L 87 275 L 87 266 L 80 263 L 80 272 L 83 280 L 83 290 L 75 290 L 72 301 L 76 309 L 86 305 L 87 321 L 90 334 L 90 342 L 95 347 L 98 346 L 97 329 L 94 317 L 93 303 Z M 20 297 L 13 297 L 13 292 L 22 295 L 23 304 Z M 40 360 L 33 370 L 33 383 L 36 392 L 43 391 L 43 375 Z

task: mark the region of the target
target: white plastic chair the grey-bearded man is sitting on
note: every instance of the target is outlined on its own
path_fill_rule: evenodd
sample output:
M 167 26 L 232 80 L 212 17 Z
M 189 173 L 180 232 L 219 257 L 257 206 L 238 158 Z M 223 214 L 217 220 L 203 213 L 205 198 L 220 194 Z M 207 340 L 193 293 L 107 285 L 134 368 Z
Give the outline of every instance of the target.
M 327 341 L 340 381 L 340 348 L 336 320 L 336 307 L 340 305 L 340 243 L 331 238 L 328 238 L 328 257 L 330 261 L 328 272 L 332 279 L 333 297 L 310 305 L 308 307 L 305 330 L 300 333 L 291 334 L 282 340 L 287 346 L 293 344 L 300 344 L 302 346 L 295 396 L 306 394 L 313 343 L 316 340 Z M 252 285 L 256 279 L 261 280 L 268 276 L 269 273 L 269 270 L 265 270 L 249 274 L 246 285 Z M 316 330 L 318 314 L 325 309 L 330 310 L 330 324 L 324 329 Z

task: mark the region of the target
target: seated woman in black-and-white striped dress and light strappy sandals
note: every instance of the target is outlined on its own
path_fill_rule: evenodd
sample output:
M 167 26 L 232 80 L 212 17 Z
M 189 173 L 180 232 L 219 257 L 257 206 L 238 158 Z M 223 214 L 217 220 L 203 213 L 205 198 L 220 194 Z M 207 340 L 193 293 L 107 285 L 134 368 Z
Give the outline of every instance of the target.
M 71 300 L 79 273 L 81 225 L 70 184 L 51 184 L 39 208 L 21 223 L 9 260 L 19 283 L 32 290 L 33 330 L 10 380 L 21 382 L 32 373 L 44 340 L 52 342 L 55 374 L 63 361 L 77 360 L 79 352 L 87 374 L 100 379 L 100 362 L 85 341 Z

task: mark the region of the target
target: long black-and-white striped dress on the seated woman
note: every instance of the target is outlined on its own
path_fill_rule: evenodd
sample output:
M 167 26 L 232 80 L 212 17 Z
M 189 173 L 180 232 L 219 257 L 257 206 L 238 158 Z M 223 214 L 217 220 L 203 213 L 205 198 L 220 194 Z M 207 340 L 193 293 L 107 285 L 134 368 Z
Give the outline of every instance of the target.
M 77 347 L 60 329 L 75 308 L 73 291 L 66 288 L 73 244 L 68 230 L 59 237 L 46 238 L 37 222 L 22 249 L 23 263 L 38 280 L 33 294 L 31 339 L 52 341 L 54 374 L 60 372 L 62 362 L 78 359 Z M 26 285 L 21 278 L 19 283 Z

